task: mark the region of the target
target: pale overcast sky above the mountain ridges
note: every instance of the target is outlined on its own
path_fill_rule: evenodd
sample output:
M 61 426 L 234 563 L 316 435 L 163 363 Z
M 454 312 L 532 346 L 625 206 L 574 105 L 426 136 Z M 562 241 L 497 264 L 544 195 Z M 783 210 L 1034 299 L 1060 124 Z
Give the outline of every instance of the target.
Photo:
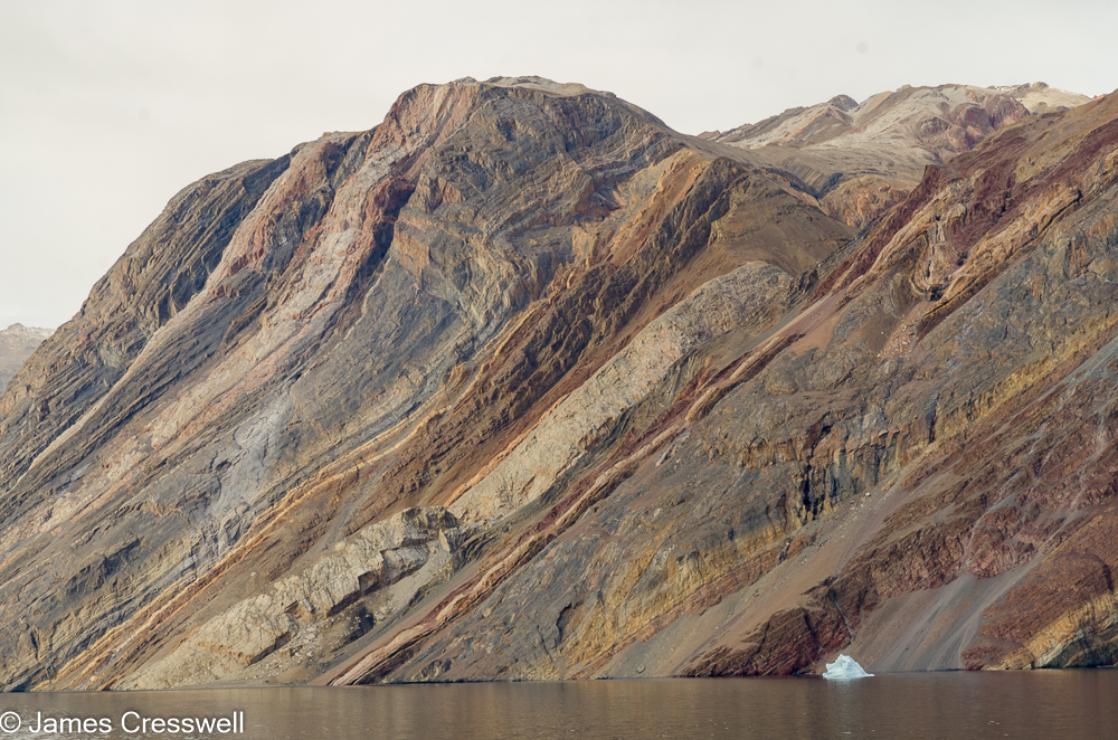
M 421 82 L 542 75 L 688 133 L 903 84 L 1118 87 L 1115 0 L 0 6 L 0 326 L 56 326 L 167 200 Z

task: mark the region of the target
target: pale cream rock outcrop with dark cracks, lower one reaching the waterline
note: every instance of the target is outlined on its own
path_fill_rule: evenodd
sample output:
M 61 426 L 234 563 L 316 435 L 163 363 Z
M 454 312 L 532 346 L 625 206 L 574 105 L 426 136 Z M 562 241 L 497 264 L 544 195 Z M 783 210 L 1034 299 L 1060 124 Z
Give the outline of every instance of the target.
M 120 687 L 282 675 L 329 661 L 461 566 L 464 532 L 445 510 L 409 509 L 337 542 L 305 568 L 210 618 Z

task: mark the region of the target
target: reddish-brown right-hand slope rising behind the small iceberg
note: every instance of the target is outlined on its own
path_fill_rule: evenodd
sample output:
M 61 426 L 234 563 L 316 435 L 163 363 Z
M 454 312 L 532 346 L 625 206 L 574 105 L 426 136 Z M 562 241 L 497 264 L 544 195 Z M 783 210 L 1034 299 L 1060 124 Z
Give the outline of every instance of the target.
M 1111 97 L 929 172 L 530 562 L 330 679 L 1112 663 L 1116 150 Z

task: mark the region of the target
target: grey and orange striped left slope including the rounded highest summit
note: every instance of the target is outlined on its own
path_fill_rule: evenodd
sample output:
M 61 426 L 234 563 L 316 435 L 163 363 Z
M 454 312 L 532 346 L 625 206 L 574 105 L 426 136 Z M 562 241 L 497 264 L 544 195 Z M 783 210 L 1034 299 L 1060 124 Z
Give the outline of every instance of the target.
M 205 197 L 255 205 L 182 248 L 207 275 L 191 300 L 132 285 L 163 269 L 141 238 L 32 360 L 70 374 L 2 401 L 0 588 L 22 604 L 0 641 L 9 685 L 123 683 L 246 585 L 452 499 L 490 459 L 480 447 L 699 285 L 766 256 L 809 265 L 847 236 L 779 178 L 534 80 L 417 88 L 372 132 L 201 181 L 149 233 L 178 249 L 161 229 L 201 224 L 181 209 Z M 102 305 L 148 290 L 171 309 Z M 103 313 L 140 329 L 101 382 Z M 29 418 L 51 404 L 74 417 L 54 437 Z

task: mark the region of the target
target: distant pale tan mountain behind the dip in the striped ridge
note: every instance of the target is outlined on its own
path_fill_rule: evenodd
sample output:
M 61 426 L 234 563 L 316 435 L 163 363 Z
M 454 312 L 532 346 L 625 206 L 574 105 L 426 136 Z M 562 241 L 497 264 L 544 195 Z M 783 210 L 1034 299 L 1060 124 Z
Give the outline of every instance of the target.
M 748 149 L 795 173 L 824 210 L 864 227 L 904 197 L 929 164 L 969 151 L 1030 112 L 1088 102 L 1044 83 L 901 87 L 862 103 L 839 95 L 704 137 Z

